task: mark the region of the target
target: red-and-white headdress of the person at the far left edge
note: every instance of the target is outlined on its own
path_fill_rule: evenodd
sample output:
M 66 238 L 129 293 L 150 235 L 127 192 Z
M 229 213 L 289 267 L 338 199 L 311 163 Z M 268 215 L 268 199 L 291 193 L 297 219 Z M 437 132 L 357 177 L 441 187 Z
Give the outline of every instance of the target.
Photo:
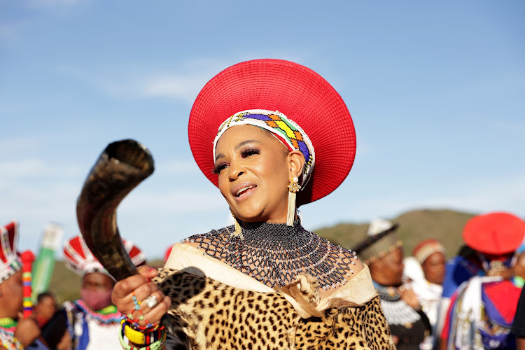
M 22 269 L 18 254 L 18 222 L 12 221 L 0 227 L 0 283 Z

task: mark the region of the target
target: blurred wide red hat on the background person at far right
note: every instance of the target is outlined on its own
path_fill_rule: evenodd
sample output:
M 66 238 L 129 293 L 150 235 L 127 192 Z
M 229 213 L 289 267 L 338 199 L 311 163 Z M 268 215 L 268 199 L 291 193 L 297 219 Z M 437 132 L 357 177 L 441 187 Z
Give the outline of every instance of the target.
M 525 222 L 507 213 L 471 218 L 463 228 L 463 241 L 476 251 L 501 255 L 515 251 L 525 237 Z

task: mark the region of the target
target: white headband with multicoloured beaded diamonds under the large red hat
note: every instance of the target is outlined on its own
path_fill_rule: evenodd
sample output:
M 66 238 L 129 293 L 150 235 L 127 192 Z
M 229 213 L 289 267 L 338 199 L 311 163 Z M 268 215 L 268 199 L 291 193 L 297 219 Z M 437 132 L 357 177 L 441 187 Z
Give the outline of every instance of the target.
M 235 113 L 230 118 L 226 119 L 218 128 L 217 136 L 214 140 L 214 159 L 215 148 L 218 139 L 230 127 L 236 125 L 254 125 L 262 127 L 262 129 L 269 132 L 281 141 L 290 151 L 300 151 L 304 155 L 304 169 L 302 172 L 301 187 L 308 182 L 310 174 L 314 169 L 315 152 L 314 145 L 308 135 L 301 129 L 299 125 L 288 119 L 283 113 L 279 111 L 267 111 L 266 109 L 248 109 Z

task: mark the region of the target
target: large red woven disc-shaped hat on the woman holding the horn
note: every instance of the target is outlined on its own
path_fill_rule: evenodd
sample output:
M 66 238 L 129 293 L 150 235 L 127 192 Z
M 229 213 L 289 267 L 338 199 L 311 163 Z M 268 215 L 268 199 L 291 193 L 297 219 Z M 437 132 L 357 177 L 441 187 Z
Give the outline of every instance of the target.
M 193 157 L 215 186 L 213 145 L 219 126 L 235 113 L 255 109 L 283 113 L 314 146 L 314 169 L 307 186 L 297 193 L 297 206 L 325 197 L 344 181 L 356 155 L 356 133 L 343 99 L 305 66 L 255 59 L 218 73 L 202 88 L 190 113 Z

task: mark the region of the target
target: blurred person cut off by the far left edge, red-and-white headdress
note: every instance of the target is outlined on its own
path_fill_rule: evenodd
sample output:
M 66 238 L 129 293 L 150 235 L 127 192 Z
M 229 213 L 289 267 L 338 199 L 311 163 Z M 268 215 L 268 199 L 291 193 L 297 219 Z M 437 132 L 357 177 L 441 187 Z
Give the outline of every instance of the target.
M 26 349 L 39 336 L 33 318 L 23 318 L 22 260 L 18 223 L 0 227 L 0 349 Z

